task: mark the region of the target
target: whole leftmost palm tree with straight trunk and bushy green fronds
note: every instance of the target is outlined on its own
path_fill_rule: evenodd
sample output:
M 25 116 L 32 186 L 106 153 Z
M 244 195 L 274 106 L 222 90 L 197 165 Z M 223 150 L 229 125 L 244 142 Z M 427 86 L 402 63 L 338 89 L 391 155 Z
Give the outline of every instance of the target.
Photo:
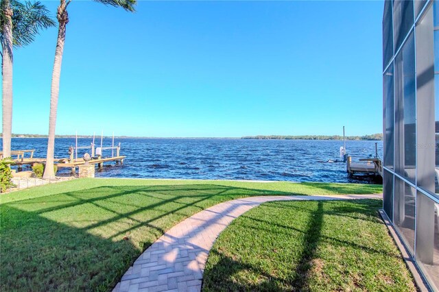
M 49 11 L 40 2 L 1 0 L 0 3 L 3 157 L 11 156 L 13 47 L 29 45 L 40 29 L 54 26 L 55 22 L 48 14 Z

